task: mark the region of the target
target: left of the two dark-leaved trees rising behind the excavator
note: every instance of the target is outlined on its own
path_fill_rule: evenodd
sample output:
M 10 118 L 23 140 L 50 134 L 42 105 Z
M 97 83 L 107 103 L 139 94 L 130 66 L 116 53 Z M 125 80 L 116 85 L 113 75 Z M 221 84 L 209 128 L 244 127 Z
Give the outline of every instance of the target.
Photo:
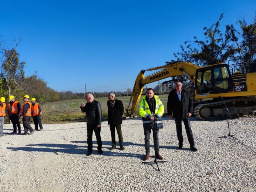
M 181 45 L 182 52 L 174 53 L 174 57 L 179 60 L 196 63 L 199 66 L 226 62 L 234 52 L 233 49 L 230 49 L 230 46 L 232 47 L 231 36 L 223 36 L 220 30 L 222 18 L 223 13 L 210 28 L 204 27 L 205 40 L 197 40 L 197 37 L 194 36 L 195 40 L 185 42 L 185 44 L 189 42 L 186 47 L 188 50 L 185 50 Z

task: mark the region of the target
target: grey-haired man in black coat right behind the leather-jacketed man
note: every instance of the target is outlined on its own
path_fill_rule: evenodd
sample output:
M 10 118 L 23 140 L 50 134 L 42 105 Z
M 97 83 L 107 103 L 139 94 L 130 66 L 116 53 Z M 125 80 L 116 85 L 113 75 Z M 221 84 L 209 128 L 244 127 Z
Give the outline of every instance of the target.
M 116 99 L 115 93 L 108 93 L 108 124 L 111 132 L 111 141 L 112 147 L 110 150 L 116 148 L 116 135 L 115 131 L 118 134 L 118 141 L 120 145 L 120 149 L 124 150 L 123 146 L 123 135 L 122 135 L 122 116 L 124 114 L 124 106 L 121 100 Z

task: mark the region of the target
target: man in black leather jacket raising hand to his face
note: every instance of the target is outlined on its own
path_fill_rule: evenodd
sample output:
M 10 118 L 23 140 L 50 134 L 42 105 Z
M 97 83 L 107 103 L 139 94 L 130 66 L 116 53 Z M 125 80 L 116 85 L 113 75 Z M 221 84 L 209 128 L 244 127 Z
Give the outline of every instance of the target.
M 102 111 L 100 102 L 94 100 L 94 97 L 91 93 L 86 95 L 87 103 L 81 104 L 81 111 L 85 112 L 85 119 L 86 119 L 86 126 L 87 126 L 87 148 L 88 154 L 87 156 L 92 155 L 92 133 L 94 131 L 97 144 L 98 144 L 98 151 L 100 154 L 103 153 L 102 151 L 102 141 L 100 137 L 100 130 L 101 130 L 101 118 L 102 118 Z

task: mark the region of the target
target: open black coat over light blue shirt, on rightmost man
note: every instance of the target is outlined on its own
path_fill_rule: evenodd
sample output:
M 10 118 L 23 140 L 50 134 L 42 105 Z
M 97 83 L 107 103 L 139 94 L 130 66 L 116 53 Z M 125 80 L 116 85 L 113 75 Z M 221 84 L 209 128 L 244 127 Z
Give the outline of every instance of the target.
M 174 118 L 188 118 L 188 112 L 193 114 L 193 101 L 190 93 L 186 89 L 181 89 L 180 101 L 176 90 L 172 90 L 168 96 L 167 112 L 168 115 L 173 115 Z

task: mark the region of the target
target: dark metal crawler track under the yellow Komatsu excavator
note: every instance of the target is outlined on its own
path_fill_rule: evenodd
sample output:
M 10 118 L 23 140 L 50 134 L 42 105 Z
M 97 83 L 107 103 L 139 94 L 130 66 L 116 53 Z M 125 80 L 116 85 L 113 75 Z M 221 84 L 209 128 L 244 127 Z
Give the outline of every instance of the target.
M 197 104 L 194 107 L 194 115 L 201 120 L 220 120 L 232 118 L 256 116 L 256 99 L 228 99 Z M 228 114 L 229 112 L 229 114 Z

